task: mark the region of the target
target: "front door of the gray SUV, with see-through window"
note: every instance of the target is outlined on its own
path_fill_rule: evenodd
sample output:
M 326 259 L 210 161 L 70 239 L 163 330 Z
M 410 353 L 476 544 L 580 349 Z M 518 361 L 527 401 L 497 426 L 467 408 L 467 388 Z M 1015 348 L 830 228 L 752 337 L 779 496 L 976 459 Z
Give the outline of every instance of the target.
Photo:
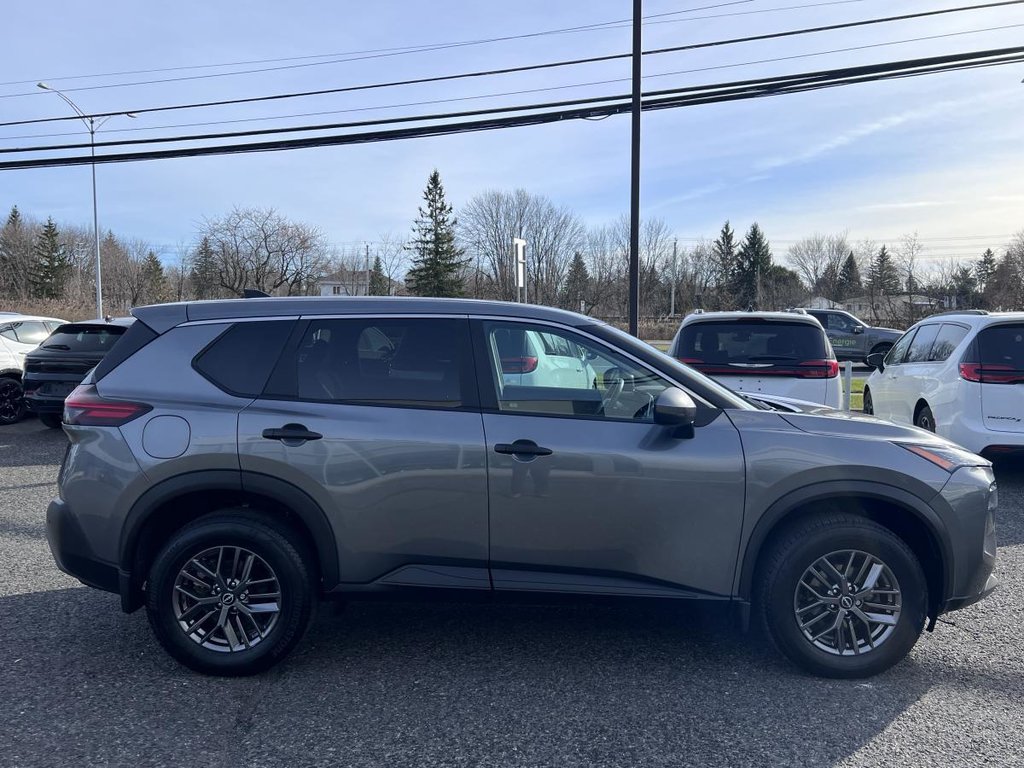
M 581 350 L 595 381 L 505 383 L 499 339 L 537 331 Z M 558 326 L 479 322 L 496 590 L 728 595 L 742 523 L 743 460 L 707 403 L 687 439 L 653 423 L 670 382 Z

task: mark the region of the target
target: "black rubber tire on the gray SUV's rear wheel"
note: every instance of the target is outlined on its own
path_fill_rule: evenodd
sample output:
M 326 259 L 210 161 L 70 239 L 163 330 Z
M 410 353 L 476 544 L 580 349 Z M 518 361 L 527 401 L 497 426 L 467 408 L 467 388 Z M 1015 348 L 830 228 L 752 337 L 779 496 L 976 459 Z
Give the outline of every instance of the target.
M 241 569 L 238 567 L 238 558 L 230 565 L 227 564 L 227 559 L 231 557 L 230 551 L 241 549 L 246 555 L 255 556 L 258 564 L 252 565 L 250 561 L 248 566 L 254 574 L 258 573 L 265 581 L 269 573 L 275 581 L 269 582 L 269 586 L 264 583 L 256 587 L 254 582 L 252 587 L 242 585 L 227 589 L 229 579 L 214 580 L 193 564 L 194 558 L 201 562 L 204 558 L 209 558 L 205 561 L 210 565 L 214 561 L 213 555 L 208 553 L 221 551 L 221 548 L 228 556 L 223 558 L 224 564 L 221 567 L 215 567 L 216 572 L 221 575 L 241 575 L 247 567 L 245 560 Z M 242 557 L 248 559 L 246 555 Z M 219 563 L 220 560 L 218 556 L 216 562 Z M 221 586 L 206 588 L 189 577 L 181 579 L 186 565 L 204 580 Z M 150 568 L 146 592 L 150 626 L 168 653 L 197 672 L 225 677 L 253 675 L 280 662 L 302 639 L 315 609 L 312 573 L 312 560 L 306 548 L 297 537 L 269 516 L 244 509 L 217 512 L 177 531 L 154 561 Z M 181 593 L 176 589 L 175 583 L 178 581 L 189 585 L 190 592 Z M 276 601 L 264 602 L 263 607 L 274 604 L 278 610 L 258 613 L 248 611 L 247 607 L 255 606 L 256 596 L 247 598 L 241 592 L 242 589 L 275 589 Z M 225 603 L 228 592 L 231 593 L 230 604 Z M 181 610 L 181 603 L 190 601 L 179 597 L 179 594 L 188 594 L 188 597 L 195 595 L 204 600 L 219 600 L 212 606 L 194 604 L 189 610 L 195 609 L 196 612 L 186 620 L 193 622 L 196 616 L 212 607 L 212 622 L 207 620 L 205 625 L 194 624 L 191 626 L 196 627 L 195 632 L 187 633 L 186 628 L 179 623 L 176 611 Z M 246 606 L 243 606 L 243 602 L 246 602 Z M 239 612 L 240 609 L 245 612 Z M 181 616 L 188 612 L 182 612 Z M 257 634 L 260 632 L 257 622 L 269 622 L 270 616 L 274 617 L 272 624 L 263 627 L 265 634 Z M 225 622 L 230 627 L 230 633 L 221 629 L 220 622 Z M 222 635 L 220 640 L 217 638 L 218 632 Z M 246 633 L 244 645 L 241 640 L 242 632 Z M 207 644 L 202 644 L 204 642 Z M 225 643 L 239 645 L 239 649 L 229 650 Z M 221 649 L 218 650 L 218 647 Z

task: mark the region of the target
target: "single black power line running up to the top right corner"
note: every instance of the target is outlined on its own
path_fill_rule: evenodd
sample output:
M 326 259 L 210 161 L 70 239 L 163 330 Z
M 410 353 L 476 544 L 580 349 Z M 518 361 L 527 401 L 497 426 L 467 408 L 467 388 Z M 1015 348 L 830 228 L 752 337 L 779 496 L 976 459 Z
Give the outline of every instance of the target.
M 872 25 L 878 25 L 878 24 L 889 24 L 889 23 L 894 23 L 894 22 L 904 22 L 904 20 L 909 20 L 909 19 L 913 19 L 913 18 L 924 18 L 924 17 L 929 17 L 929 16 L 944 15 L 944 14 L 948 14 L 948 13 L 959 13 L 959 12 L 966 12 L 966 11 L 972 11 L 972 10 L 984 10 L 984 9 L 988 9 L 988 8 L 1001 7 L 1001 6 L 1007 6 L 1007 5 L 1020 5 L 1021 3 L 1024 3 L 1024 0 L 999 0 L 998 2 L 985 3 L 985 4 L 982 4 L 982 5 L 964 5 L 964 6 L 957 6 L 957 7 L 954 7 L 954 8 L 941 8 L 941 9 L 938 9 L 938 10 L 921 11 L 921 12 L 916 12 L 916 13 L 904 13 L 904 14 L 896 15 L 896 16 L 883 16 L 883 17 L 861 19 L 861 20 L 857 20 L 857 22 L 846 22 L 846 23 L 843 23 L 843 24 L 836 24 L 836 25 L 827 25 L 827 26 L 820 26 L 820 27 L 803 28 L 803 29 L 798 29 L 798 30 L 786 30 L 786 31 L 783 31 L 783 32 L 767 33 L 767 34 L 764 34 L 764 35 L 755 35 L 755 36 L 740 37 L 740 38 L 728 38 L 728 39 L 724 39 L 724 40 L 714 40 L 714 41 L 702 42 L 702 43 L 691 43 L 691 44 L 688 44 L 688 45 L 672 46 L 672 47 L 668 47 L 668 48 L 656 48 L 656 49 L 652 49 L 652 50 L 643 51 L 643 54 L 644 55 L 657 55 L 657 54 L 664 54 L 664 53 L 675 53 L 675 52 L 680 52 L 680 51 L 699 50 L 699 49 L 703 49 L 703 48 L 714 48 L 714 47 L 720 47 L 720 46 L 725 46 L 725 45 L 736 45 L 736 44 L 740 44 L 740 43 L 759 42 L 759 41 L 764 41 L 764 40 L 774 40 L 774 39 L 780 39 L 780 38 L 794 37 L 794 36 L 798 36 L 798 35 L 817 34 L 817 33 L 821 33 L 821 32 L 830 32 L 830 31 L 835 31 L 835 30 L 845 30 L 845 29 L 851 29 L 851 28 L 856 28 L 856 27 L 866 27 L 866 26 L 872 26 Z M 495 75 L 506 75 L 506 74 L 513 74 L 513 73 L 519 73 L 519 72 L 529 72 L 529 71 L 538 71 L 538 70 L 549 70 L 549 69 L 555 69 L 555 68 L 561 68 L 561 67 L 573 67 L 573 66 L 578 66 L 578 65 L 584 65 L 584 63 L 594 63 L 594 62 L 599 62 L 599 61 L 610 61 L 610 60 L 614 60 L 614 59 L 629 58 L 631 55 L 632 54 L 630 54 L 630 53 L 613 53 L 613 54 L 608 54 L 608 55 L 603 55 L 603 56 L 591 56 L 591 57 L 586 57 L 586 58 L 574 58 L 574 59 L 566 59 L 566 60 L 561 60 L 561 61 L 549 61 L 549 62 L 539 63 L 539 65 L 525 65 L 525 66 L 522 66 L 522 67 L 511 67 L 511 68 L 498 69 L 498 70 L 485 70 L 485 71 L 479 71 L 479 72 L 458 73 L 458 74 L 455 74 L 455 75 L 439 75 L 439 76 L 436 76 L 436 77 L 415 78 L 415 79 L 409 79 L 409 80 L 397 80 L 397 81 L 383 82 L 383 83 L 370 83 L 370 84 L 362 84 L 362 85 L 350 85 L 350 86 L 344 86 L 344 87 L 341 87 L 341 88 L 323 88 L 323 89 L 309 90 L 309 91 L 298 91 L 298 92 L 290 92 L 290 93 L 276 93 L 276 94 L 270 94 L 270 95 L 265 95 L 265 96 L 250 96 L 250 97 L 246 97 L 246 98 L 220 99 L 220 100 L 214 100 L 214 101 L 200 101 L 200 102 L 194 102 L 194 103 L 173 104 L 173 105 L 164 105 L 164 106 L 133 108 L 133 109 L 118 110 L 116 112 L 95 113 L 95 114 L 92 114 L 92 115 L 87 115 L 86 117 L 104 118 L 104 117 L 114 117 L 116 115 L 124 115 L 125 113 L 131 113 L 133 115 L 145 115 L 145 114 L 152 114 L 152 113 L 158 113 L 158 112 L 170 112 L 170 111 L 178 111 L 178 110 L 195 110 L 195 109 L 205 109 L 205 108 L 209 108 L 209 106 L 225 106 L 225 105 L 241 104 L 241 103 L 253 103 L 253 102 L 258 102 L 258 101 L 274 101 L 274 100 L 291 99 L 291 98 L 304 98 L 304 97 L 307 97 L 307 96 L 322 96 L 322 95 L 328 95 L 328 94 L 334 94 L 334 93 L 349 93 L 349 92 L 353 92 L 353 91 L 371 90 L 371 89 L 377 89 L 377 88 L 392 88 L 392 87 L 406 86 L 406 85 L 420 85 L 420 84 L 424 84 L 424 83 L 436 83 L 436 82 L 441 82 L 441 81 L 463 80 L 463 79 L 467 79 L 467 78 L 490 77 L 490 76 L 495 76 Z M 16 94 L 8 94 L 8 96 L 9 95 L 16 95 Z M 0 98 L 6 98 L 8 96 L 0 96 Z M 14 120 L 14 121 L 8 121 L 8 122 L 0 123 L 0 127 L 9 127 L 9 126 L 14 126 L 14 125 L 29 125 L 29 124 L 36 124 L 36 123 L 61 122 L 61 121 L 66 121 L 66 120 L 78 120 L 78 119 L 79 118 L 77 118 L 76 116 L 60 116 L 60 117 L 53 117 L 53 118 L 34 118 L 34 119 L 31 119 L 31 120 Z

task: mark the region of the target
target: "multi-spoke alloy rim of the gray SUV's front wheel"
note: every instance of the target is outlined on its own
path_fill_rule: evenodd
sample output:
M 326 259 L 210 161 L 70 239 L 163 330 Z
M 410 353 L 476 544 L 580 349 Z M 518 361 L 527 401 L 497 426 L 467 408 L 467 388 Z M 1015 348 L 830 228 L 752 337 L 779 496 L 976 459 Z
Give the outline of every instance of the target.
M 892 569 L 859 550 L 831 552 L 800 578 L 793 598 L 797 625 L 816 648 L 860 655 L 885 643 L 899 623 L 902 594 Z

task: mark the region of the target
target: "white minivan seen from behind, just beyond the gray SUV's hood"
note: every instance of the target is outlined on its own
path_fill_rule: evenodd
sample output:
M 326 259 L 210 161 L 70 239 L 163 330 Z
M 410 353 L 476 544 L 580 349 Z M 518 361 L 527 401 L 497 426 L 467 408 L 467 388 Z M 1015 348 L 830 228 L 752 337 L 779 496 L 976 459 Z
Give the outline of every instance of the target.
M 693 312 L 669 354 L 753 396 L 776 395 L 839 409 L 839 362 L 821 324 L 794 312 Z

